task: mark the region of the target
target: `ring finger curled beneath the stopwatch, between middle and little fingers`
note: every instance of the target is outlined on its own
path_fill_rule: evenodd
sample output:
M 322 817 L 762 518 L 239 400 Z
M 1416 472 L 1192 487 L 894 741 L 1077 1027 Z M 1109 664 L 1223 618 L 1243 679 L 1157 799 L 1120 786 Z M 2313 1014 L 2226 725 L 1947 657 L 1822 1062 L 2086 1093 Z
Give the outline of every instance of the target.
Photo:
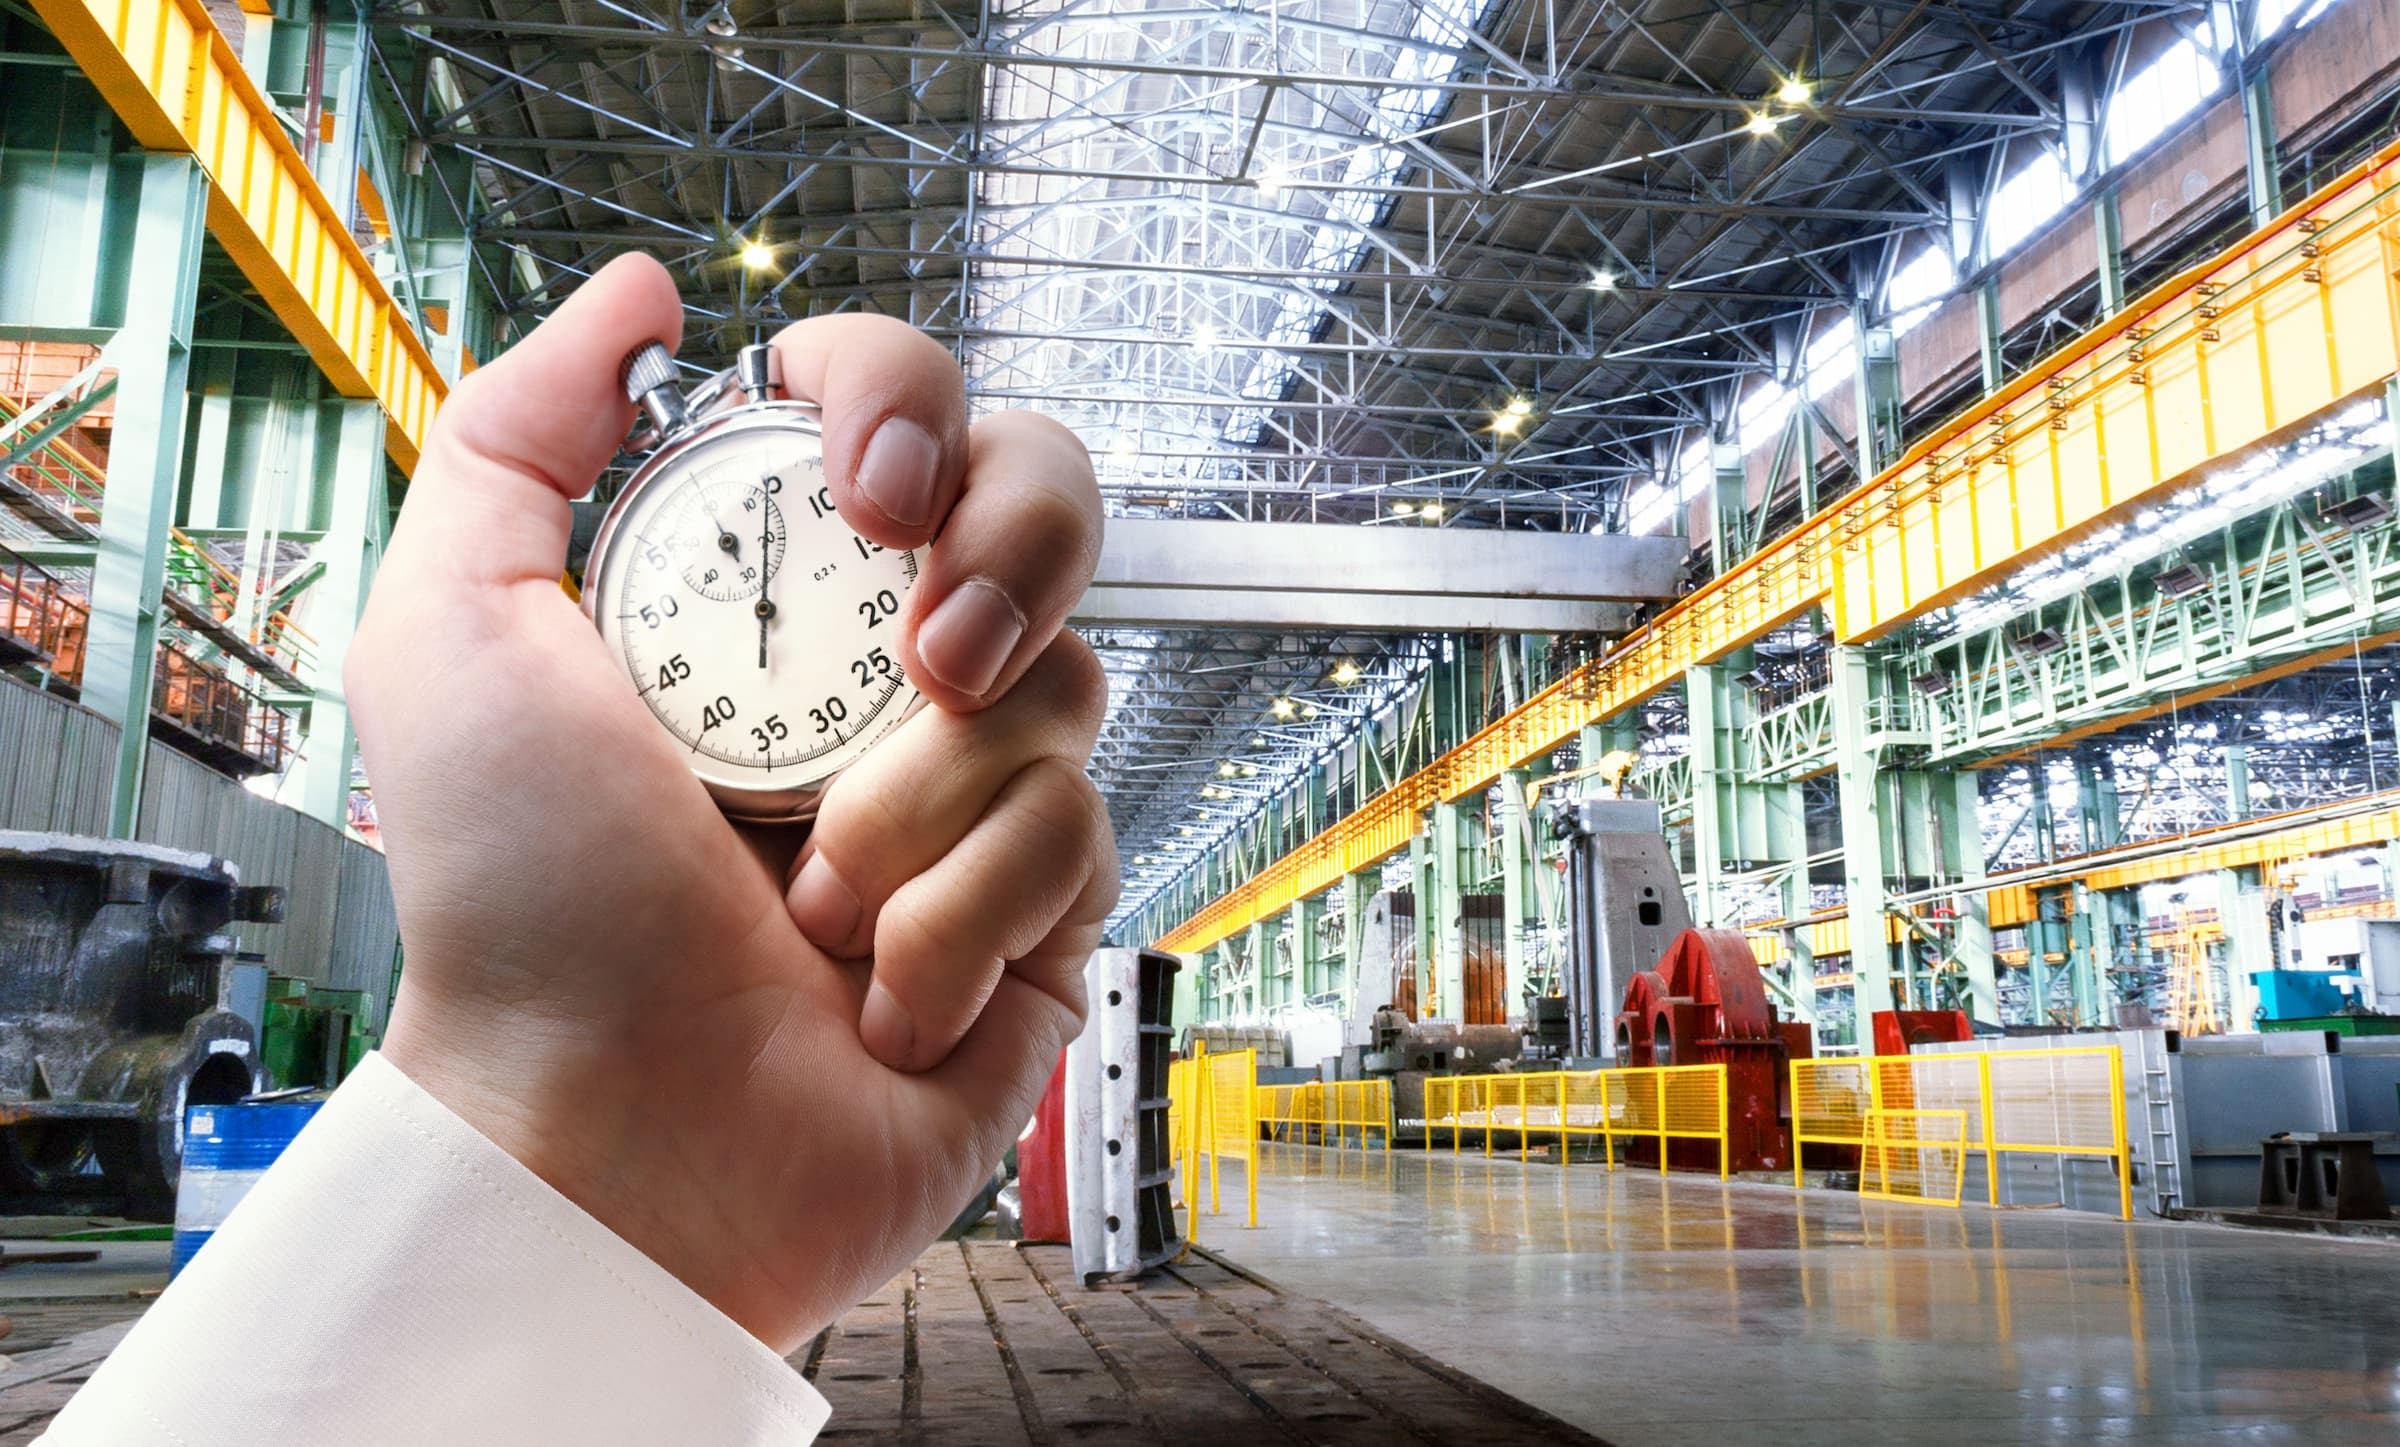
M 1018 773 L 1042 758 L 1080 770 L 1106 703 L 1099 660 L 1066 636 L 994 708 L 907 720 L 826 794 L 787 893 L 802 933 L 830 955 L 869 953 L 883 902 L 948 854 Z

